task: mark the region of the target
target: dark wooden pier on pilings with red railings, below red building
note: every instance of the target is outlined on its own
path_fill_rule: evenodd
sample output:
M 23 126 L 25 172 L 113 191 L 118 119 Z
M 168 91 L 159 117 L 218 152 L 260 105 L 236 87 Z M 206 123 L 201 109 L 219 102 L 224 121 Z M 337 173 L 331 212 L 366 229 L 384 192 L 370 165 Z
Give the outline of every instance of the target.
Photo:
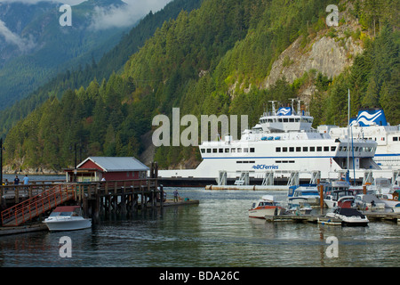
M 96 221 L 100 214 L 126 214 L 138 208 L 163 207 L 163 185 L 157 178 L 95 183 L 45 183 L 0 187 L 3 226 L 19 226 L 49 214 L 62 205 L 81 205 L 84 215 Z M 6 192 L 5 192 L 6 191 Z M 4 193 L 5 192 L 5 193 Z M 7 195 L 7 196 L 6 196 Z M 10 204 L 10 203 L 13 203 Z

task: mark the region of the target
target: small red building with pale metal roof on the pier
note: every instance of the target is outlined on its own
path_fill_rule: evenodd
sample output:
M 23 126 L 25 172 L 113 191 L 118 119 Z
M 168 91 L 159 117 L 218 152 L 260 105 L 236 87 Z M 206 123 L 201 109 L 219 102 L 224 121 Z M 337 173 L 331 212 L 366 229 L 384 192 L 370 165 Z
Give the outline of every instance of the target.
M 65 169 L 68 182 L 147 178 L 148 170 L 147 166 L 132 157 L 89 157 L 76 169 Z

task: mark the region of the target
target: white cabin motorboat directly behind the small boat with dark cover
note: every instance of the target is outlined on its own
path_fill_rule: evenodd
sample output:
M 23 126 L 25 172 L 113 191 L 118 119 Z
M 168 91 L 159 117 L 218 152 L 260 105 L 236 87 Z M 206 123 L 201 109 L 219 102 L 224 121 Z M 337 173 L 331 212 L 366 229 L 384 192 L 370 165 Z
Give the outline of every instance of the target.
M 351 208 L 355 195 L 346 181 L 332 181 L 324 192 L 324 203 L 328 208 Z

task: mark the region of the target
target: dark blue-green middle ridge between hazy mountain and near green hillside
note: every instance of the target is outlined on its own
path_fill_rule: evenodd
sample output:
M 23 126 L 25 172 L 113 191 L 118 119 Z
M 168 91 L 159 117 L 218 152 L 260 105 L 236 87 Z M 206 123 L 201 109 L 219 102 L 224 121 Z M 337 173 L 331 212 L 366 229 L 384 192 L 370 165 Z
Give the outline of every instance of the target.
M 50 96 L 60 98 L 68 89 L 78 89 L 87 86 L 94 78 L 108 78 L 113 71 L 123 69 L 124 63 L 132 53 L 138 51 L 148 37 L 153 36 L 157 27 L 165 20 L 175 19 L 182 11 L 197 8 L 201 0 L 173 0 L 158 12 L 149 12 L 139 24 L 125 34 L 119 43 L 108 53 L 103 54 L 99 61 L 91 59 L 89 63 L 68 68 L 52 77 L 26 98 L 15 102 L 11 107 L 0 110 L 0 136 L 5 137 L 10 128 L 20 119 L 25 118 L 32 110 L 40 106 Z

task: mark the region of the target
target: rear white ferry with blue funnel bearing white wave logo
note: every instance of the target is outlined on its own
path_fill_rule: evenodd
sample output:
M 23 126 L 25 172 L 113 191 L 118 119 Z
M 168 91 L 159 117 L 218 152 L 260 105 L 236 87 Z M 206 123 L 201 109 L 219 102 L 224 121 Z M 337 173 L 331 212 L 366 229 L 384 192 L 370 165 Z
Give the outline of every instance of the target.
M 377 142 L 374 161 L 381 169 L 399 169 L 400 166 L 400 125 L 390 126 L 382 109 L 359 110 L 356 118 L 350 119 L 350 127 L 318 126 L 321 133 L 334 139 L 349 136 Z

